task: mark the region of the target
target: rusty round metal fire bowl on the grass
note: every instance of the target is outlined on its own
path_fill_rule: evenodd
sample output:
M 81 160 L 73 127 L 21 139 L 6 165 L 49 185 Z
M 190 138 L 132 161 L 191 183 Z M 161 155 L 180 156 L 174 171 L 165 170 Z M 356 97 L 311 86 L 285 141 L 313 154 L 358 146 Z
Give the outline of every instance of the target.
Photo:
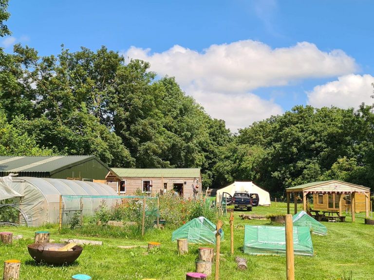
M 61 248 L 65 243 L 35 243 L 27 245 L 30 256 L 36 262 L 64 264 L 74 262 L 82 253 L 83 248 L 75 245 L 73 251 L 49 251 L 49 248 Z

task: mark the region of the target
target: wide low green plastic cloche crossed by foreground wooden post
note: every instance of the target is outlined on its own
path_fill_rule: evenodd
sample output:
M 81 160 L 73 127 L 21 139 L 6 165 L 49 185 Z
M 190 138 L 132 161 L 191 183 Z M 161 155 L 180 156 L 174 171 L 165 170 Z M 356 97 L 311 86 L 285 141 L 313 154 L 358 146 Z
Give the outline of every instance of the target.
M 293 227 L 295 256 L 313 256 L 309 227 Z M 245 226 L 244 253 L 250 255 L 286 254 L 285 227 Z

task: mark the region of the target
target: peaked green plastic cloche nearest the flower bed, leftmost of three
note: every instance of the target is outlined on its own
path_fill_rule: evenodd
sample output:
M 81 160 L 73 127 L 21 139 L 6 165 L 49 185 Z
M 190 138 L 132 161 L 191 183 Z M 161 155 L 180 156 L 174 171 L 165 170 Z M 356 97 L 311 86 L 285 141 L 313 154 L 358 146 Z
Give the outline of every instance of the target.
M 187 239 L 188 243 L 216 244 L 216 226 L 205 217 L 195 218 L 182 227 L 174 230 L 171 241 Z M 224 232 L 221 233 L 224 240 Z

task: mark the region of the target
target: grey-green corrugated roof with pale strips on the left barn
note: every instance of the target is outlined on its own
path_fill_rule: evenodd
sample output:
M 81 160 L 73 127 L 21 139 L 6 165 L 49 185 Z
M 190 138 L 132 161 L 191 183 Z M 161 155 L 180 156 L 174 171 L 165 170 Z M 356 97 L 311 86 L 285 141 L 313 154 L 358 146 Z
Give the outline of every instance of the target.
M 0 157 L 0 172 L 49 172 L 52 174 L 91 158 L 95 156 Z

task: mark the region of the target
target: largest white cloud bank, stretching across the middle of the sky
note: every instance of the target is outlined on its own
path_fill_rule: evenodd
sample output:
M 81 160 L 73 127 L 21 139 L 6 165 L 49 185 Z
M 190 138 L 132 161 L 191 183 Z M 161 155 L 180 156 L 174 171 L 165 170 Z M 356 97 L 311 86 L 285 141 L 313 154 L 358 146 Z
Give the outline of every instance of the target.
M 282 112 L 272 100 L 251 90 L 357 70 L 355 60 L 343 51 L 322 52 L 308 42 L 272 49 L 262 42 L 244 40 L 211 45 L 202 53 L 178 45 L 162 53 L 131 47 L 123 54 L 149 61 L 151 70 L 161 76 L 175 76 L 208 114 L 224 119 L 233 131 Z

